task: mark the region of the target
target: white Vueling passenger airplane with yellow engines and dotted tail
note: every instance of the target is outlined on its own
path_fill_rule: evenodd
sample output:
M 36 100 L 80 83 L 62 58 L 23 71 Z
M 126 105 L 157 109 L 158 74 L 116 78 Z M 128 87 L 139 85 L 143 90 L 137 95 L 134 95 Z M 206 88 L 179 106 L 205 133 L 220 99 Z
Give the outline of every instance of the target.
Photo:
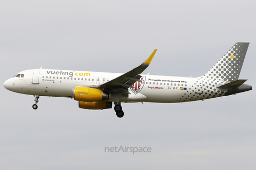
M 35 97 L 68 97 L 83 109 L 112 108 L 123 117 L 121 103 L 181 103 L 229 96 L 252 90 L 238 79 L 249 43 L 236 43 L 204 75 L 197 78 L 141 74 L 154 52 L 138 67 L 122 73 L 33 69 L 21 71 L 4 82 L 7 90 Z

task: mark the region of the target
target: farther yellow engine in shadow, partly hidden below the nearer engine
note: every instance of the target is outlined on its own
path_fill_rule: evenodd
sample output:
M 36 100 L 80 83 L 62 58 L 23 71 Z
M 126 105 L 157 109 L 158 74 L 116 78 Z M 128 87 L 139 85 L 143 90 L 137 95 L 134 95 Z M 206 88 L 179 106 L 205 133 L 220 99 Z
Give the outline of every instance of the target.
M 79 108 L 85 109 L 105 109 L 112 108 L 111 101 L 79 101 Z

